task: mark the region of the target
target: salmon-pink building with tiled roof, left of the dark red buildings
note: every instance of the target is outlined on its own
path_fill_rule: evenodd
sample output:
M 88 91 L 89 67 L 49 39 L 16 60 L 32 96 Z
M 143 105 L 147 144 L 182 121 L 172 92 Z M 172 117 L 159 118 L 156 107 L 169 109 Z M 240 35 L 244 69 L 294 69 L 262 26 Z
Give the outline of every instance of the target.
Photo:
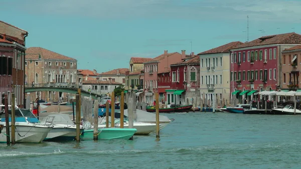
M 148 104 L 153 104 L 155 100 L 154 93 L 158 90 L 158 72 L 166 68 L 170 68 L 171 64 L 181 62 L 185 58 L 185 50 L 182 54 L 178 52 L 168 53 L 157 56 L 156 58 L 144 63 L 144 101 Z M 161 95 L 166 94 L 165 91 L 160 91 Z

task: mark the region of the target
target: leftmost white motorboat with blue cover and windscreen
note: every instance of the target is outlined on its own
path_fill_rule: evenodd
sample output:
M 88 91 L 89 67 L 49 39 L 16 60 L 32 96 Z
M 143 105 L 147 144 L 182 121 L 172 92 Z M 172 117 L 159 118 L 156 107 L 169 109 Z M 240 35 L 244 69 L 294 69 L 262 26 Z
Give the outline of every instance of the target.
M 6 133 L 6 122 L 4 118 L 4 113 L 0 114 L 2 118 L 0 119 L 0 124 L 4 125 L 2 133 L 0 133 L 0 142 L 4 143 L 7 141 Z M 12 111 L 9 110 L 9 115 L 11 116 Z M 37 117 L 28 109 L 16 109 L 16 142 L 26 142 L 26 143 L 37 143 L 43 141 L 48 132 L 53 128 L 51 124 L 53 117 L 47 117 L 47 122 L 40 122 Z M 12 134 L 12 123 L 10 117 L 10 134 Z

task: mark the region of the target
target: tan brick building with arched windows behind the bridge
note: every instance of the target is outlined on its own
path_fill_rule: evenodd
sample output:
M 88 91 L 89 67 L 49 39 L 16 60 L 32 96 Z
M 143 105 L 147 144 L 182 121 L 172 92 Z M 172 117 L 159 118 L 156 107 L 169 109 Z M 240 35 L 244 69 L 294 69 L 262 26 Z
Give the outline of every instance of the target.
M 26 50 L 25 59 L 26 86 L 76 86 L 77 60 L 49 51 L 40 47 L 31 47 Z M 64 92 L 43 91 L 31 93 L 32 101 L 39 98 L 45 101 L 66 101 L 73 94 Z

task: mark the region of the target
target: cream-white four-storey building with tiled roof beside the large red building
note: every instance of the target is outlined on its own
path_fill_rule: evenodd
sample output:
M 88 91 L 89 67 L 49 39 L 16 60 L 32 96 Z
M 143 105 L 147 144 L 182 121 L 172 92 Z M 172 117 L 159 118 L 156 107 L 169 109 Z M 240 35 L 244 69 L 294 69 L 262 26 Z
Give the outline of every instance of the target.
M 243 43 L 231 42 L 198 54 L 200 97 L 207 105 L 211 106 L 216 99 L 230 99 L 230 49 L 241 44 Z

